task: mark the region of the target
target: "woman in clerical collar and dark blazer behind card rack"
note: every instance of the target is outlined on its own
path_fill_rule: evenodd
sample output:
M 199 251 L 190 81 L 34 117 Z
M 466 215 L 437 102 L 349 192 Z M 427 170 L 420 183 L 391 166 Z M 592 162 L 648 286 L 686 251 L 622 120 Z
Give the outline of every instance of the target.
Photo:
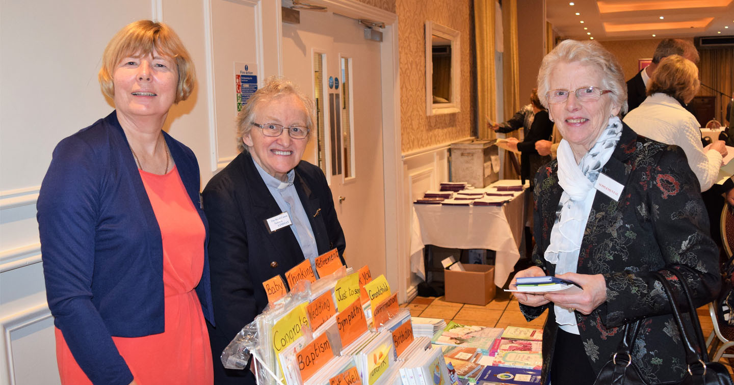
M 301 160 L 313 135 L 313 113 L 313 100 L 293 83 L 268 78 L 237 117 L 240 154 L 204 188 L 215 357 L 268 304 L 262 282 L 276 275 L 286 282 L 286 271 L 304 260 L 313 266 L 330 249 L 344 254 L 326 177 Z M 255 378 L 214 359 L 214 383 L 254 385 Z

